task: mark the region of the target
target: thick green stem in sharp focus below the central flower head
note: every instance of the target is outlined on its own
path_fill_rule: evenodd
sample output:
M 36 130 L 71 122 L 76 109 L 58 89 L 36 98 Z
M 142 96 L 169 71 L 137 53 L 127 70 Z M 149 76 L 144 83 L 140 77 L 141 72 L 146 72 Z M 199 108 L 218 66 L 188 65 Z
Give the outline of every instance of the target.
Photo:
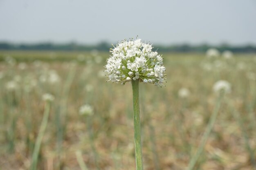
M 142 152 L 141 152 L 141 130 L 139 116 L 139 80 L 132 80 L 132 96 L 133 96 L 133 121 L 134 121 L 134 143 L 135 143 L 135 159 L 136 170 L 143 170 Z

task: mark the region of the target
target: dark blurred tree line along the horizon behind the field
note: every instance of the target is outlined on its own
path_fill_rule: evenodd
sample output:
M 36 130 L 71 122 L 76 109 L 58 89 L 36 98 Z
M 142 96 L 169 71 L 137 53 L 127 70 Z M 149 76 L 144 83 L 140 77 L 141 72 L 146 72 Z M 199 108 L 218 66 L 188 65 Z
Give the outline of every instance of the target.
M 13 44 L 9 42 L 0 42 L 0 50 L 63 50 L 63 51 L 109 51 L 112 45 L 108 42 L 101 42 L 96 45 L 82 45 L 75 42 L 66 44 L 54 44 L 51 42 L 37 43 L 37 44 Z M 157 45 L 154 44 L 154 49 L 159 52 L 205 52 L 209 48 L 216 48 L 219 51 L 229 50 L 234 53 L 256 53 L 256 45 L 248 44 L 243 46 L 231 46 L 227 43 L 219 46 L 211 46 L 209 44 L 191 45 Z

